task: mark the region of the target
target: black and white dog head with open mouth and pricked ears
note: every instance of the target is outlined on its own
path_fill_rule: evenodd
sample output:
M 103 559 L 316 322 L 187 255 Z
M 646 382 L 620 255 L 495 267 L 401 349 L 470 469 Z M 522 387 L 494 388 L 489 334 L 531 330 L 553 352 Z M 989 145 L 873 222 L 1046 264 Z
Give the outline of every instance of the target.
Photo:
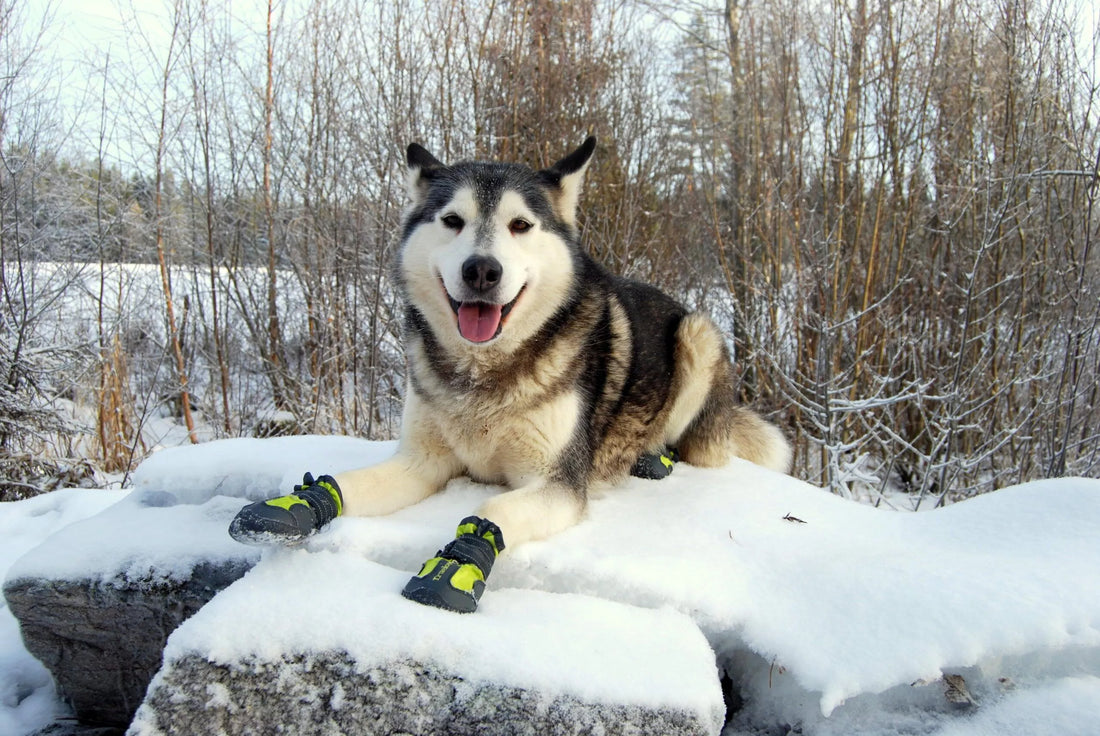
M 398 282 L 451 352 L 514 350 L 566 300 L 590 138 L 548 169 L 447 166 L 414 143 Z

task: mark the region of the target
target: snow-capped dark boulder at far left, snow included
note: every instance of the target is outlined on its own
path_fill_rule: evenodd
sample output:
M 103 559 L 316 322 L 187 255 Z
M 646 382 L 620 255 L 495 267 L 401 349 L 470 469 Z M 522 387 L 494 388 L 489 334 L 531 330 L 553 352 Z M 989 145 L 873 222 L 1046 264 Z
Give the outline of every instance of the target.
M 125 728 L 168 635 L 258 552 L 226 541 L 241 502 L 131 495 L 18 560 L 3 595 L 84 724 Z

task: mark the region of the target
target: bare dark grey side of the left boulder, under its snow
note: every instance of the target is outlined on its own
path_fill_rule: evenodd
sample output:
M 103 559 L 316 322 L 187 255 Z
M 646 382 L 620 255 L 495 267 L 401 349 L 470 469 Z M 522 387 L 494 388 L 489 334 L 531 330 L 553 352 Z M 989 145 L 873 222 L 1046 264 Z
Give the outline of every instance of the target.
M 242 560 L 204 562 L 190 579 L 14 579 L 3 595 L 23 644 L 53 673 L 80 723 L 125 728 L 168 635 L 243 575 Z

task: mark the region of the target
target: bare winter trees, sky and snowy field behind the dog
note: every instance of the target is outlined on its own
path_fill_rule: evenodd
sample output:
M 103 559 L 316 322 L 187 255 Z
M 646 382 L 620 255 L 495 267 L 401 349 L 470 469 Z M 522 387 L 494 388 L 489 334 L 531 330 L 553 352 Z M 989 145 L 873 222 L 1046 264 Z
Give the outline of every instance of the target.
M 590 132 L 586 248 L 715 314 L 796 475 L 935 505 L 1100 468 L 1097 39 L 1070 0 L 263 10 L 133 13 L 74 102 L 56 18 L 0 0 L 9 496 L 73 458 L 128 471 L 157 416 L 395 436 L 405 144 L 546 166 Z

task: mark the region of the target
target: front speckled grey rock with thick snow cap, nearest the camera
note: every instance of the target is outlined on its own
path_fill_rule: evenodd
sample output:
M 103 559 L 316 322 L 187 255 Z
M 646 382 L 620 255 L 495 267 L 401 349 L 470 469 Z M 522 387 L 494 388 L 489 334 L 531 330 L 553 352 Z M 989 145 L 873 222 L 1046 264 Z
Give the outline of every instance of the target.
M 272 554 L 168 640 L 130 734 L 712 734 L 714 652 L 690 618 L 498 591 L 410 603 L 355 554 Z

